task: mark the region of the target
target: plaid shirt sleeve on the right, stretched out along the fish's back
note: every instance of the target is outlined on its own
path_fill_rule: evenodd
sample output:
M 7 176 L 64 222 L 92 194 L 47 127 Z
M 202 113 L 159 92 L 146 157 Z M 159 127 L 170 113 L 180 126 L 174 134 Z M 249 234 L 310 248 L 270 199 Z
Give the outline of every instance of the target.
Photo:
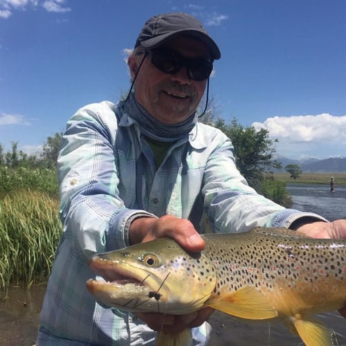
M 303 217 L 327 221 L 314 213 L 284 208 L 258 194 L 237 170 L 230 140 L 216 133 L 212 142 L 202 190 L 212 230 L 230 233 L 255 226 L 289 228 Z

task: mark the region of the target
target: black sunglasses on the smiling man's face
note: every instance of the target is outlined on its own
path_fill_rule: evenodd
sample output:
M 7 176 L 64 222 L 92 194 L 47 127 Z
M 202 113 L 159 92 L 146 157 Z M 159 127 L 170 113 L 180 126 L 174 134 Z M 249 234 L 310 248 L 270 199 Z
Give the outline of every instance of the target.
M 150 55 L 152 64 L 156 69 L 164 73 L 174 75 L 174 73 L 178 73 L 181 68 L 185 67 L 189 78 L 198 81 L 208 79 L 210 73 L 212 73 L 212 62 L 202 58 L 188 59 L 174 51 L 162 48 L 152 49 L 143 53 Z

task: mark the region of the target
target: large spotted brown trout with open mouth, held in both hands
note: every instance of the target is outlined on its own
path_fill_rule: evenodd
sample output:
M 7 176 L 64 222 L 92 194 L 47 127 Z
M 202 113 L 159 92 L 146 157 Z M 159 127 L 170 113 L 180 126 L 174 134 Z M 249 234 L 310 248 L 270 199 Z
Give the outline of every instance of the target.
M 206 248 L 187 253 L 161 238 L 93 256 L 95 298 L 118 309 L 172 314 L 212 307 L 240 318 L 282 318 L 308 346 L 332 346 L 316 313 L 346 303 L 346 240 L 313 239 L 285 228 L 203 235 Z M 190 331 L 159 333 L 156 345 L 190 345 Z

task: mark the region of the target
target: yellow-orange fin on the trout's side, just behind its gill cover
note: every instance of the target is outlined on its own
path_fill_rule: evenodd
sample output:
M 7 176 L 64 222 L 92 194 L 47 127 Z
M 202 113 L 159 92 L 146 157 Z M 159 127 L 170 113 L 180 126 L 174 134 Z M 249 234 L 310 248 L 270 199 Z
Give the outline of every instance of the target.
M 233 293 L 210 298 L 206 305 L 229 315 L 251 320 L 277 317 L 273 304 L 253 287 L 244 287 Z

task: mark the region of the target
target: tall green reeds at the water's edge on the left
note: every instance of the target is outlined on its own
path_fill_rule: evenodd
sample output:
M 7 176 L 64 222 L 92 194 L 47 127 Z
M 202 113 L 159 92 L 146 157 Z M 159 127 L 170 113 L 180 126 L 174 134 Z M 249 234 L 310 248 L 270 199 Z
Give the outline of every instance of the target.
M 10 282 L 30 286 L 51 271 L 62 234 L 58 201 L 46 192 L 21 189 L 0 200 L 0 290 Z

